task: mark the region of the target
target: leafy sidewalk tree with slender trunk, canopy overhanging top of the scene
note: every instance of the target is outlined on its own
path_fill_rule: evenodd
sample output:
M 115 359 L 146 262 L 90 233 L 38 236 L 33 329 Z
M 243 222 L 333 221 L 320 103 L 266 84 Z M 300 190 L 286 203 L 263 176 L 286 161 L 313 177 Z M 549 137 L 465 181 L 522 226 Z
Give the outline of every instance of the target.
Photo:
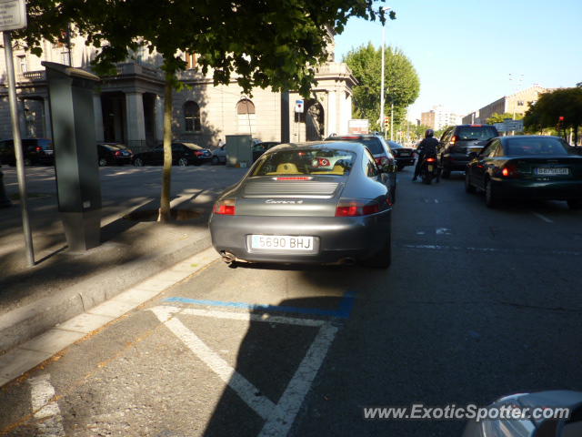
M 111 71 L 139 46 L 163 58 L 166 76 L 164 176 L 159 220 L 170 219 L 172 92 L 186 67 L 182 52 L 196 53 L 214 83 L 236 82 L 246 94 L 255 86 L 297 89 L 309 96 L 316 67 L 327 59 L 328 28 L 341 33 L 351 16 L 384 23 L 373 0 L 29 0 L 28 27 L 15 33 L 36 55 L 43 39 L 65 42 L 66 29 L 86 38 L 98 54 L 98 74 Z M 394 15 L 391 15 L 394 17 Z

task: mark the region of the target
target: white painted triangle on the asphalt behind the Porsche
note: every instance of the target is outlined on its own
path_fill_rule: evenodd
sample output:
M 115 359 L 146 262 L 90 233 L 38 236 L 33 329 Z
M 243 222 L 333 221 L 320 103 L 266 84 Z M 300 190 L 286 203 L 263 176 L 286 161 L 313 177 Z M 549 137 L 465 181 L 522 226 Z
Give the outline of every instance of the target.
M 150 309 L 156 317 L 166 324 L 178 339 L 193 351 L 198 358 L 225 381 L 255 412 L 266 420 L 259 437 L 285 437 L 295 422 L 297 412 L 301 408 L 311 384 L 316 378 L 327 351 L 333 342 L 337 328 L 325 320 L 297 319 L 291 317 L 267 316 L 242 311 L 226 310 L 199 310 L 172 306 L 159 306 Z M 283 323 L 308 327 L 319 327 L 315 340 L 309 346 L 306 356 L 299 364 L 293 378 L 286 386 L 286 390 L 275 404 L 265 396 L 257 396 L 259 391 L 240 373 L 230 367 L 226 361 L 211 351 L 194 332 L 188 330 L 180 320 L 178 314 L 213 317 L 218 319 L 263 321 L 269 323 Z

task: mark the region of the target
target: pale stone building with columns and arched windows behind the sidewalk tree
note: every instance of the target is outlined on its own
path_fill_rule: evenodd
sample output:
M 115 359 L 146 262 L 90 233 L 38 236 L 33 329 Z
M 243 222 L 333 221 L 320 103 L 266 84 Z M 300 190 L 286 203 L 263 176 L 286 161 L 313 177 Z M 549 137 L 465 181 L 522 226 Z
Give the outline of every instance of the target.
M 196 56 L 184 54 L 187 69 L 178 78 L 186 87 L 175 91 L 172 134 L 175 139 L 215 146 L 219 138 L 250 134 L 264 141 L 305 141 L 347 132 L 356 78 L 344 63 L 334 62 L 333 36 L 329 61 L 317 72 L 317 86 L 305 102 L 305 113 L 294 112 L 294 91 L 279 93 L 256 88 L 242 93 L 233 78 L 229 85 L 214 86 L 211 74 L 196 69 Z M 45 42 L 39 58 L 14 47 L 16 93 L 23 137 L 51 137 L 48 92 L 42 61 L 90 69 L 95 48 L 81 37 L 70 45 Z M 0 56 L 0 139 L 12 137 L 5 81 L 5 56 Z M 102 77 L 95 90 L 97 141 L 121 142 L 134 149 L 153 147 L 163 138 L 164 76 L 159 56 L 142 50 L 116 66 L 116 74 Z

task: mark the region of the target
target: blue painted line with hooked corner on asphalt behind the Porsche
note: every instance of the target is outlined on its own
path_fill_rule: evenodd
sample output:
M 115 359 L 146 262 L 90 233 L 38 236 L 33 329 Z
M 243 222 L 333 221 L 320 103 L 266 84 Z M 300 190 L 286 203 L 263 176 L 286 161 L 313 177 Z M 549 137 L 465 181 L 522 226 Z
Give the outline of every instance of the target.
M 190 298 L 168 298 L 165 302 L 180 302 L 195 305 L 207 305 L 211 307 L 229 307 L 243 310 L 266 311 L 266 312 L 295 312 L 297 314 L 311 314 L 316 316 L 336 317 L 338 319 L 348 319 L 352 310 L 354 309 L 354 300 L 356 293 L 347 291 L 339 303 L 337 310 L 324 310 L 321 308 L 301 308 L 288 307 L 286 305 L 260 305 L 256 303 L 246 302 L 228 302 L 222 300 L 205 300 L 205 299 L 190 299 Z

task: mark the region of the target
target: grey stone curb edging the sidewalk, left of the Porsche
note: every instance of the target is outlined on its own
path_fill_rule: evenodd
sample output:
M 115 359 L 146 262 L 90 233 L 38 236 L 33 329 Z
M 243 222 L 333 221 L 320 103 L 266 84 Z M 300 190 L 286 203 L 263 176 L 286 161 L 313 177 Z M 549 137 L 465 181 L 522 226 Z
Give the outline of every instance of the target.
M 187 243 L 176 243 L 159 254 L 141 257 L 108 269 L 0 316 L 0 357 L 9 349 L 50 330 L 55 325 L 91 310 L 135 284 L 210 248 L 209 233 Z

